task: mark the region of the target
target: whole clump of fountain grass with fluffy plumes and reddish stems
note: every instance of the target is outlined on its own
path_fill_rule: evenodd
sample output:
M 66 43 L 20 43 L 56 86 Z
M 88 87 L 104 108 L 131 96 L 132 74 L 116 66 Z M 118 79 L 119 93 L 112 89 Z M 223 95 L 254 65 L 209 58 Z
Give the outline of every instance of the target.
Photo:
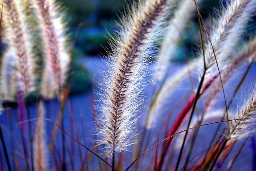
M 15 101 L 15 96 L 17 96 L 18 111 L 7 105 L 6 110 L 8 117 L 10 117 L 10 112 L 18 113 L 18 127 L 22 140 L 22 145 L 12 142 L 19 149 L 11 145 L 12 160 L 10 162 L 8 161 L 8 148 L 4 147 L 4 136 L 0 129 L 8 169 L 15 170 L 15 167 L 24 165 L 26 170 L 46 170 L 54 167 L 56 170 L 74 170 L 77 167 L 80 170 L 90 170 L 91 168 L 108 170 L 110 167 L 112 171 L 127 171 L 132 166 L 134 170 L 158 171 L 231 169 L 245 143 L 235 151 L 236 157 L 232 159 L 230 165 L 226 166 L 225 161 L 232 153 L 232 149 L 235 149 L 238 141 L 244 137 L 248 138 L 254 131 L 256 90 L 248 101 L 241 105 L 241 109 L 234 116 L 235 119 L 230 119 L 228 109 L 232 107 L 233 98 L 255 60 L 255 36 L 249 40 L 248 44 L 245 44 L 244 49 L 236 50 L 236 48 L 239 47 L 238 43 L 242 40 L 241 37 L 248 20 L 255 12 L 256 0 L 230 0 L 226 7 L 222 6 L 220 10 L 216 10 L 213 24 L 208 23 L 207 26 L 200 15 L 200 8 L 196 1 L 194 2 L 193 4 L 191 0 L 182 0 L 177 9 L 174 8 L 176 0 L 141 0 L 127 5 L 127 9 L 121 17 L 121 23 L 118 24 L 115 37 L 110 36 L 111 50 L 108 52 L 106 62 L 108 69 L 100 71 L 102 83 L 101 89 L 97 91 L 96 101 L 98 102 L 92 100 L 90 104 L 93 119 L 96 120 L 96 135 L 88 143 L 86 140 L 89 137 L 88 134 L 91 133 L 84 129 L 84 125 L 86 125 L 84 120 L 81 119 L 82 127 L 79 127 L 74 121 L 76 118 L 74 115 L 77 113 L 73 113 L 73 106 L 70 105 L 69 100 L 70 118 L 66 120 L 70 119 L 70 130 L 64 127 L 64 107 L 71 89 L 68 87 L 67 73 L 70 70 L 70 49 L 66 48 L 68 46 L 65 33 L 66 24 L 63 24 L 60 6 L 53 0 L 5 0 L 3 33 L 8 47 L 1 64 L 1 90 L 3 99 L 6 101 Z M 172 10 L 176 11 L 168 21 Z M 166 72 L 169 69 L 172 70 L 172 68 L 168 68 L 169 59 L 172 58 L 172 52 L 175 51 L 176 44 L 182 36 L 180 31 L 182 32 L 193 13 L 198 15 L 200 27 L 198 34 L 201 38 L 201 42 L 197 43 L 199 49 L 195 54 L 197 58 L 170 77 L 168 76 L 169 72 Z M 183 15 L 185 15 L 184 20 L 181 20 Z M 32 31 L 32 25 L 36 20 L 38 20 L 39 26 L 35 29 L 40 41 L 34 44 L 35 32 Z M 164 27 L 168 22 L 174 23 L 169 26 L 169 32 L 165 35 L 160 49 L 155 72 L 155 91 L 150 97 L 152 100 L 145 103 L 142 90 L 146 85 L 144 79 L 148 72 L 147 59 L 154 56 L 155 45 L 158 43 L 158 38 L 164 35 Z M 32 49 L 38 49 L 40 52 L 35 53 Z M 37 68 L 40 67 L 34 63 L 34 59 L 40 59 L 44 63 L 42 76 L 38 73 Z M 236 87 L 229 85 L 234 86 L 231 88 L 235 90 L 230 98 L 230 103 L 226 104 L 224 87 L 227 86 L 227 82 L 236 74 L 237 70 L 245 64 L 248 66 L 240 82 Z M 193 74 L 199 78 L 198 82 L 194 82 Z M 168 109 L 170 93 L 176 91 L 174 87 L 188 76 L 190 76 L 190 80 L 193 80 L 192 89 L 188 90 L 188 93 L 181 91 L 180 94 L 183 97 L 177 99 L 175 107 Z M 42 81 L 35 84 L 35 80 L 38 78 Z M 194 86 L 197 86 L 197 89 L 194 89 Z M 28 95 L 35 89 L 39 90 L 39 102 L 36 110 L 37 117 L 33 118 L 28 106 Z M 210 113 L 208 109 L 214 108 L 214 99 L 217 99 L 217 95 L 221 91 L 224 93 L 226 110 L 212 110 L 218 112 Z M 48 101 L 56 95 L 60 106 L 56 107 L 55 111 L 58 116 L 54 122 L 45 118 L 49 116 L 50 109 L 46 107 L 48 104 L 44 104 L 44 100 Z M 27 118 L 24 97 L 27 100 L 25 101 L 27 102 Z M 174 96 L 172 98 L 173 101 L 176 100 Z M 97 104 L 95 108 L 94 102 Z M 143 128 L 138 122 L 139 116 L 142 115 L 140 110 L 142 104 L 148 105 L 144 113 L 146 123 L 143 123 Z M 51 104 L 51 107 L 54 108 L 54 104 Z M 168 113 L 163 113 L 165 115 L 158 114 L 158 111 L 166 110 Z M 205 115 L 206 112 L 208 115 Z M 197 115 L 195 116 L 194 113 Z M 222 113 L 225 115 L 221 115 Z M 215 123 L 203 124 L 204 121 L 211 120 L 213 114 L 214 118 L 221 119 Z M 52 116 L 51 113 L 50 117 L 55 117 L 55 115 Z M 11 121 L 11 118 L 8 120 Z M 54 125 L 53 130 L 49 131 L 52 134 L 52 139 L 47 136 L 49 132 L 44 125 L 46 120 L 51 121 L 50 123 Z M 32 124 L 34 121 L 36 123 Z M 27 129 L 25 122 L 28 122 L 29 140 L 25 133 Z M 220 132 L 220 127 L 218 127 L 218 130 L 212 133 L 212 141 L 208 147 L 206 149 L 198 147 L 198 151 L 201 150 L 201 152 L 193 153 L 196 142 L 200 138 L 198 136 L 199 128 L 219 122 L 227 123 L 222 134 L 218 134 Z M 160 123 L 160 125 L 154 126 L 153 123 Z M 180 131 L 182 126 L 187 129 Z M 57 133 L 57 128 L 62 131 L 61 137 Z M 79 128 L 82 130 L 78 130 Z M 191 129 L 193 131 L 190 131 L 188 136 L 188 131 Z M 143 131 L 142 135 L 138 133 L 141 131 Z M 10 137 L 15 137 L 11 132 L 12 127 L 10 126 Z M 176 135 L 182 132 L 185 135 L 182 138 L 176 138 Z M 211 135 L 210 131 L 208 134 Z M 84 137 L 83 143 L 79 141 L 80 135 Z M 70 137 L 72 142 L 75 141 L 82 145 L 86 152 L 79 147 L 76 149 L 74 143 L 70 143 L 70 147 L 68 147 L 66 136 Z M 58 144 L 59 141 L 62 143 L 61 146 Z M 180 145 L 174 146 L 174 141 Z M 92 142 L 97 143 L 93 148 Z M 28 143 L 30 143 L 30 148 L 27 147 Z M 47 146 L 47 144 L 49 145 Z M 147 154 L 154 147 L 156 147 L 155 152 Z M 188 148 L 186 149 L 186 147 Z M 14 153 L 17 150 L 23 157 L 24 163 L 17 159 L 18 157 Z M 76 153 L 76 150 L 79 153 Z M 125 153 L 129 153 L 127 151 L 132 151 L 131 163 L 123 157 Z M 76 154 L 79 154 L 80 162 L 76 161 Z M 67 156 L 69 156 L 69 160 L 67 160 Z M 98 162 L 95 162 L 94 156 L 97 157 Z M 51 157 L 51 160 L 48 157 Z M 103 157 L 109 157 L 111 161 L 106 161 Z M 53 162 L 50 163 L 50 161 Z M 13 166 L 10 165 L 12 162 Z

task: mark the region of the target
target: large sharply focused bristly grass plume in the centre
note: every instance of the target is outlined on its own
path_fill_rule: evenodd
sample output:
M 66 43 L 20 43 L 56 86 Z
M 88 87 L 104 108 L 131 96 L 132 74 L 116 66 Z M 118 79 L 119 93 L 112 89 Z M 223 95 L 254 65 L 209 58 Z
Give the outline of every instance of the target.
M 112 39 L 110 72 L 103 76 L 105 86 L 99 107 L 100 128 L 98 144 L 105 145 L 104 152 L 112 156 L 131 144 L 134 137 L 136 111 L 142 99 L 142 76 L 145 58 L 160 33 L 169 5 L 174 0 L 146 0 L 128 7 L 122 19 L 117 38 Z

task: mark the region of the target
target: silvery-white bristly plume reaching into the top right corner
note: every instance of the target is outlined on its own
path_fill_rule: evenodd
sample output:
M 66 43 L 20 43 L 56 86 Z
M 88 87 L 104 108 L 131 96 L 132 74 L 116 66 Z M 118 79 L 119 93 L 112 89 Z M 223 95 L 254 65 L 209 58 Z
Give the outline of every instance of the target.
M 208 73 L 206 77 L 211 75 L 209 74 L 211 71 L 217 71 L 214 52 L 219 67 L 224 69 L 225 63 L 227 62 L 226 60 L 233 54 L 234 48 L 238 40 L 240 40 L 241 34 L 244 32 L 244 27 L 255 12 L 255 7 L 256 0 L 230 0 L 226 9 L 222 7 L 222 11 L 217 12 L 217 17 L 212 27 L 213 29 L 210 30 L 211 42 L 208 37 L 205 36 L 205 58 Z M 202 53 L 200 56 L 203 56 Z M 202 68 L 203 64 L 201 63 L 200 66 Z M 202 71 L 200 73 L 202 73 Z

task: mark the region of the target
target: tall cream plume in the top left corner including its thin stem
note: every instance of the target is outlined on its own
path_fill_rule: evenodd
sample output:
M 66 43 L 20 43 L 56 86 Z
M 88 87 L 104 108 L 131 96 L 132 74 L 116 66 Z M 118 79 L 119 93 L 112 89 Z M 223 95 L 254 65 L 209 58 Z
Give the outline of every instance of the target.
M 18 88 L 25 97 L 34 90 L 34 73 L 32 68 L 32 58 L 30 52 L 30 45 L 26 42 L 28 39 L 28 35 L 25 34 L 26 26 L 23 25 L 23 14 L 17 8 L 19 6 L 19 2 L 15 0 L 6 0 L 5 7 L 8 11 L 8 22 L 10 24 L 9 29 L 9 38 L 11 42 L 11 47 L 15 48 L 16 56 L 18 57 L 18 65 L 17 65 L 17 84 Z M 31 119 L 28 101 L 27 101 L 27 114 L 28 119 Z M 32 125 L 28 123 L 28 133 L 30 140 L 32 140 Z M 31 156 L 31 165 L 33 170 L 33 147 L 32 141 L 30 141 L 30 156 Z

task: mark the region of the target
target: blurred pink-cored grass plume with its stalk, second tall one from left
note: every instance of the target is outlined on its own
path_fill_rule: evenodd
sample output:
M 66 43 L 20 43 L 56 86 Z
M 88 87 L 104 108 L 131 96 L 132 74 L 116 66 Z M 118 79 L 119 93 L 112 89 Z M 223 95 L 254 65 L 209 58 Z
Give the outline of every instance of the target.
M 56 3 L 56 2 L 55 2 Z M 42 85 L 47 88 L 46 92 L 54 91 L 54 86 L 50 86 L 51 89 L 49 90 L 49 86 L 47 85 L 54 85 L 52 83 L 51 74 L 47 74 L 50 72 L 49 68 L 51 68 L 51 73 L 54 76 L 54 82 L 58 86 L 57 88 L 57 96 L 58 100 L 60 101 L 60 112 L 58 113 L 57 121 L 61 120 L 62 128 L 64 128 L 64 105 L 66 101 L 66 87 L 67 87 L 67 76 L 66 72 L 70 70 L 70 59 L 69 55 L 66 51 L 65 46 L 65 36 L 64 36 L 64 28 L 62 28 L 62 19 L 57 18 L 55 8 L 56 4 L 52 0 L 35 0 L 34 4 L 36 6 L 39 18 L 42 21 L 42 30 L 44 33 L 43 41 L 46 44 L 46 57 L 45 60 L 45 72 L 43 75 L 43 82 Z M 60 27 L 60 28 L 59 28 Z M 49 67 L 50 66 L 50 67 Z M 63 87 L 63 84 L 64 87 Z M 52 88 L 53 87 L 53 88 Z M 51 96 L 48 96 L 51 94 Z M 51 98 L 53 93 L 46 94 L 47 98 Z M 65 96 L 65 97 L 64 97 Z M 54 130 L 52 132 L 52 141 L 55 140 L 56 137 L 57 127 L 54 126 Z M 53 143 L 50 143 L 50 149 L 52 149 Z M 66 169 L 66 152 L 65 152 L 65 136 L 62 132 L 62 155 L 63 155 L 63 166 L 62 170 Z

